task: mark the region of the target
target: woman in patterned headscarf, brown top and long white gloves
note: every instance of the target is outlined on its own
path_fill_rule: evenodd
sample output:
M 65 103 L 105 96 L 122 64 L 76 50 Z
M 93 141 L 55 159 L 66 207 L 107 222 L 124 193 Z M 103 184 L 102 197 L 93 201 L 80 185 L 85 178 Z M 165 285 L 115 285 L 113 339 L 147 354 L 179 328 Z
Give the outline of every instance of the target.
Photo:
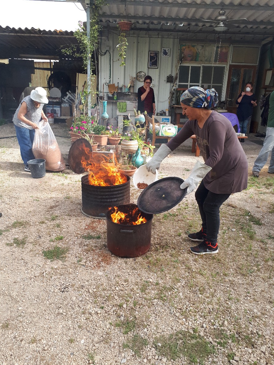
M 204 90 L 194 86 L 180 98 L 183 115 L 189 120 L 167 145 L 161 145 L 146 164 L 148 171 L 155 173 L 161 161 L 181 143 L 195 134 L 204 163 L 197 161 L 189 178 L 180 186 L 195 192 L 202 227 L 188 237 L 200 242 L 190 247 L 194 254 L 217 253 L 217 236 L 220 227 L 220 206 L 232 193 L 247 188 L 248 164 L 231 122 L 220 113 L 211 110 L 218 102 L 214 89 Z

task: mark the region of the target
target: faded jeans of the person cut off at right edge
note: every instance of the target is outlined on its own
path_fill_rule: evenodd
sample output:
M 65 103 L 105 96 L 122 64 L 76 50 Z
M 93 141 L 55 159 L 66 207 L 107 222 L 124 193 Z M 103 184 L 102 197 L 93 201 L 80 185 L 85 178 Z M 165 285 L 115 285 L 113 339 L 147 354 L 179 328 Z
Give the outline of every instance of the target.
M 271 158 L 268 170 L 269 172 L 274 173 L 274 127 L 266 128 L 266 137 L 265 141 L 263 142 L 263 148 L 260 150 L 252 170 L 260 172 L 260 170 L 266 164 L 270 151 Z

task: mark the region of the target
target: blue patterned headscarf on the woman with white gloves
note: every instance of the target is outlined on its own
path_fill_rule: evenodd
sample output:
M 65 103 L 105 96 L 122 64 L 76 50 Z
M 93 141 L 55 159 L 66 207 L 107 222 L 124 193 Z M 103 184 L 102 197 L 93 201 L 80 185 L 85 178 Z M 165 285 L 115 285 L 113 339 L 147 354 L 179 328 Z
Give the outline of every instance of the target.
M 218 103 L 218 94 L 215 89 L 193 86 L 182 93 L 180 102 L 193 108 L 211 109 Z

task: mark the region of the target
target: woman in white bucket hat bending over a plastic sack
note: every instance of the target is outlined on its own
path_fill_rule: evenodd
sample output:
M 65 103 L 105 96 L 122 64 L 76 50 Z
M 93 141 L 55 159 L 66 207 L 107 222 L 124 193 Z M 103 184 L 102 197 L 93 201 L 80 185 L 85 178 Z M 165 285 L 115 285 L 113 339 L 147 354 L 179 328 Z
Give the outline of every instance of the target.
M 38 87 L 31 91 L 30 96 L 24 97 L 12 119 L 26 171 L 30 171 L 27 161 L 35 158 L 32 146 L 37 124 L 41 119 L 48 121 L 43 112 L 43 106 L 48 102 L 46 90 Z

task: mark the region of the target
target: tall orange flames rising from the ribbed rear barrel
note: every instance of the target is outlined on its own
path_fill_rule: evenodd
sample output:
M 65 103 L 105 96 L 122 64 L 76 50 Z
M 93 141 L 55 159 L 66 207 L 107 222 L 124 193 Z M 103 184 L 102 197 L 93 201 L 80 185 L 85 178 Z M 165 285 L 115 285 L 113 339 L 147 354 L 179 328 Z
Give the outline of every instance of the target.
M 106 157 L 100 153 L 91 153 L 83 146 L 81 164 L 88 171 L 88 181 L 95 186 L 121 185 L 127 182 L 125 175 L 118 172 L 114 163 L 107 163 Z

